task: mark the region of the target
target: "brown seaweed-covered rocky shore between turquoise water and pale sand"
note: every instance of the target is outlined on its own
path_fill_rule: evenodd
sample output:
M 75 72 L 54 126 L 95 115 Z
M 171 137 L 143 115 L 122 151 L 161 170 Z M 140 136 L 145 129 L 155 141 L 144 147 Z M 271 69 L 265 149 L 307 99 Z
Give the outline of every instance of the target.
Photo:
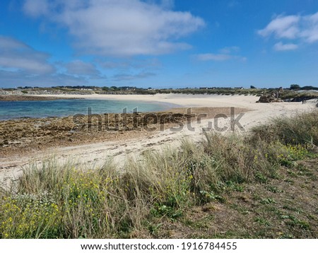
M 246 111 L 235 108 L 236 113 Z M 83 114 L 80 117 L 5 120 L 0 122 L 0 156 L 151 136 L 155 132 L 196 120 L 194 115 L 201 113 L 206 113 L 206 118 L 216 117 L 217 114 L 229 115 L 230 107 L 192 108 L 192 114 L 184 108 L 177 108 L 168 112 L 93 114 L 91 118 Z

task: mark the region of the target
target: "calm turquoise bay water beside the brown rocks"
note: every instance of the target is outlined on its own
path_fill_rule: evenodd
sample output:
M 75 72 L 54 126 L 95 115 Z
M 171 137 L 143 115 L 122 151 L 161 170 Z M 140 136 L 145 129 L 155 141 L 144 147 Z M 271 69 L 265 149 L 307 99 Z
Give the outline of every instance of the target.
M 155 112 L 167 110 L 175 105 L 159 102 L 117 101 L 117 100 L 46 100 L 46 101 L 0 101 L 0 120 L 23 117 L 64 117 L 73 114 L 87 114 L 88 107 L 92 113 L 107 112 Z

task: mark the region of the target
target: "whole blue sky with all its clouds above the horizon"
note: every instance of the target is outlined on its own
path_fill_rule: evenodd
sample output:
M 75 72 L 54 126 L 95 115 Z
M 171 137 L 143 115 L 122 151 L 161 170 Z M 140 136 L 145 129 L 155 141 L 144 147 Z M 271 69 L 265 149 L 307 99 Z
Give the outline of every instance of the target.
M 317 0 L 2 0 L 0 87 L 318 86 Z

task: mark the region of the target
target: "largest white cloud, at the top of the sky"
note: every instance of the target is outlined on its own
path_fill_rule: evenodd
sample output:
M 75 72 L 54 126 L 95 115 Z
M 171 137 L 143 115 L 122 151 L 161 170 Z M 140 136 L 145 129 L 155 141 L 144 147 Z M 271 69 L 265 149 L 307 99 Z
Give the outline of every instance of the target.
M 43 1 L 48 11 L 40 9 L 38 0 L 25 0 L 23 10 L 66 26 L 76 47 L 91 54 L 126 57 L 189 49 L 179 39 L 205 25 L 189 12 L 172 11 L 172 1 Z

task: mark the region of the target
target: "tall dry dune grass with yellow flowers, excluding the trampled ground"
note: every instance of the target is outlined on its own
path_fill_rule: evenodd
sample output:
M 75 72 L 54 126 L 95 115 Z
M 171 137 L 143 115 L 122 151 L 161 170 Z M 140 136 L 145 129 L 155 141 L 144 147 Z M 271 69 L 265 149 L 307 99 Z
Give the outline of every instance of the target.
M 233 189 L 268 184 L 300 160 L 317 160 L 317 116 L 275 119 L 246 136 L 208 133 L 199 144 L 147 151 L 120 170 L 112 161 L 91 170 L 48 160 L 1 190 L 0 237 L 169 237 L 156 232 L 163 223 L 183 220 L 197 206 L 227 204 Z M 261 222 L 253 223 L 256 230 Z M 311 228 L 304 222 L 299 229 Z

